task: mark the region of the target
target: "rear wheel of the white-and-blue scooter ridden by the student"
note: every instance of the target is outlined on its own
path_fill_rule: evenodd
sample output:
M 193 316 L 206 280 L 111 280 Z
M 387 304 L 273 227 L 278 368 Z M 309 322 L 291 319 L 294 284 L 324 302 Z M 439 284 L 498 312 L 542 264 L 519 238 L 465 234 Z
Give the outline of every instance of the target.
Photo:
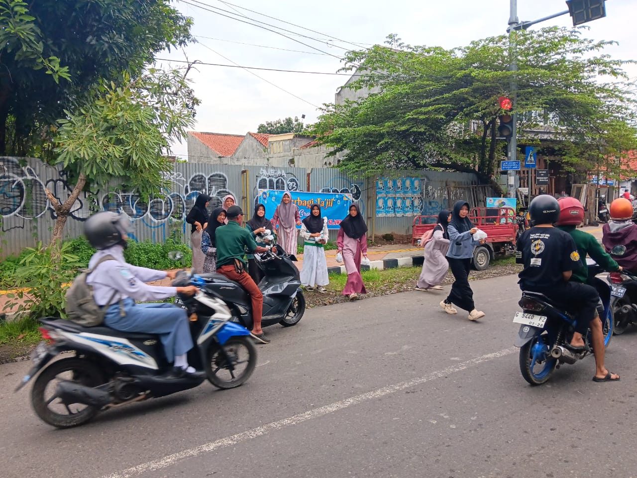
M 55 361 L 45 368 L 36 379 L 31 390 L 31 405 L 38 417 L 46 423 L 57 428 L 71 428 L 87 423 L 97 415 L 99 408 L 83 405 L 81 403 L 55 403 L 58 398 L 55 395 L 55 385 L 53 389 L 47 386 L 55 382 L 59 375 L 67 373 L 69 376 L 63 380 L 80 383 L 87 387 L 97 387 L 104 383 L 103 375 L 96 365 L 81 358 L 66 358 Z M 47 391 L 51 392 L 47 394 Z M 51 405 L 56 405 L 56 410 L 66 410 L 66 414 L 51 409 Z M 74 405 L 76 405 L 74 407 Z M 83 408 L 78 408 L 83 407 Z M 73 411 L 72 409 L 75 409 Z

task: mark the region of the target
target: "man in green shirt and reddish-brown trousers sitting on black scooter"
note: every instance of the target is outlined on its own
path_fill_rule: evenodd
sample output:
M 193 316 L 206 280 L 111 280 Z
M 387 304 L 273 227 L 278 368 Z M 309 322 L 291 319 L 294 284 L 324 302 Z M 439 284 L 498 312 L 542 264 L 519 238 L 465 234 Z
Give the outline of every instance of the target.
M 228 223 L 215 230 L 217 240 L 217 273 L 234 280 L 250 295 L 252 301 L 252 321 L 254 326 L 250 335 L 259 344 L 268 344 L 269 338 L 261 328 L 261 315 L 263 313 L 263 294 L 259 286 L 254 283 L 250 274 L 245 272 L 245 251 L 266 252 L 271 246 L 258 246 L 254 235 L 248 229 L 241 227 L 243 211 L 239 206 L 230 206 L 225 212 Z

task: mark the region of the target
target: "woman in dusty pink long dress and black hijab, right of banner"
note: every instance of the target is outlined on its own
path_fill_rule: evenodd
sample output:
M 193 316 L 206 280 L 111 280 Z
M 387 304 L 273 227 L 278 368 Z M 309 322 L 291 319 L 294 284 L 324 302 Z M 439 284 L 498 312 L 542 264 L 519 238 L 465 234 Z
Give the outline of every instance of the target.
M 350 214 L 341 221 L 336 245 L 338 252 L 343 254 L 347 272 L 347 284 L 341 294 L 348 296 L 350 300 L 356 300 L 358 294 L 367 293 L 361 276 L 361 255 L 367 257 L 367 224 L 357 203 L 352 203 Z

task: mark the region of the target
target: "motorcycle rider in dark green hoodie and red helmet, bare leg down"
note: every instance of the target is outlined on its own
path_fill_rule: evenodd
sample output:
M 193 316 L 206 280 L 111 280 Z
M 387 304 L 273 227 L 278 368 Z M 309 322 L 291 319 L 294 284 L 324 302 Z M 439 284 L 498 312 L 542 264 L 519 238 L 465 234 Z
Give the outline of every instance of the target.
M 582 224 L 584 220 L 584 206 L 582 206 L 582 203 L 575 198 L 559 198 L 557 202 L 560 206 L 560 213 L 555 226 L 571 235 L 575 242 L 575 247 L 577 247 L 577 252 L 582 258 L 582 267 L 573 270 L 570 280 L 582 282 L 582 284 L 589 282 L 589 268 L 586 265 L 586 256 L 590 256 L 601 268 L 608 272 L 619 272 L 622 270 L 622 267 L 606 253 L 595 236 L 577 229 L 577 226 Z M 602 309 L 601 312 L 600 308 Z M 603 315 L 603 305 L 601 304 L 598 306 L 598 313 L 600 317 Z M 599 317 L 590 322 L 590 331 L 592 333 L 593 353 L 595 354 L 595 365 L 597 368 L 596 377 L 593 380 L 596 382 L 619 380 L 619 375 L 608 372 L 604 365 L 604 336 Z M 578 345 L 583 346 L 583 338 L 580 338 L 580 340 L 582 343 L 578 344 L 574 338 L 571 345 L 575 347 Z

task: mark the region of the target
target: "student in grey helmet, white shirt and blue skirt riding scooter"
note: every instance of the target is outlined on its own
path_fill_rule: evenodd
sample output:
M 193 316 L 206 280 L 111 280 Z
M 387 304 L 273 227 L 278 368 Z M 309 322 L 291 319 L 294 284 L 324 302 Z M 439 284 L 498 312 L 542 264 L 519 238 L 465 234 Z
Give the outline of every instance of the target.
M 148 269 L 125 261 L 130 224 L 125 215 L 107 211 L 97 212 L 84 224 L 86 238 L 97 249 L 90 258 L 92 272 L 86 282 L 93 288 L 97 305 L 106 307 L 104 325 L 123 332 L 159 335 L 166 359 L 173 363 L 169 377 L 203 378 L 203 372 L 188 365 L 187 352 L 193 344 L 186 311 L 169 303 L 135 303 L 136 300 L 162 300 L 178 293 L 192 295 L 197 287 L 146 284 L 166 277 L 175 279 L 175 271 Z M 104 260 L 106 256 L 112 259 Z

